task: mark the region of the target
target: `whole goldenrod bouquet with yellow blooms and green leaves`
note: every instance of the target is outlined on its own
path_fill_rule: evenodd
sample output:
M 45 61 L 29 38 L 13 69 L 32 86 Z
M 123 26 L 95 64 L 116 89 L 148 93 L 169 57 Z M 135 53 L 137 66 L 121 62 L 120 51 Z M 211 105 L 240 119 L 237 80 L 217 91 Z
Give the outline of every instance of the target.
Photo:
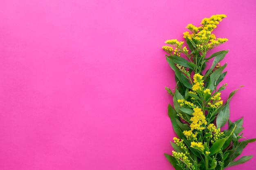
M 219 85 L 227 74 L 224 72 L 227 63 L 222 66 L 219 62 L 228 51 L 207 57 L 208 51 L 227 41 L 212 33 L 223 18 L 226 15 L 204 18 L 199 27 L 188 24 L 189 32 L 183 33 L 187 46 L 174 39 L 166 40 L 168 46 L 162 47 L 168 53 L 166 60 L 176 80 L 175 91 L 166 90 L 173 96 L 168 115 L 177 137 L 171 142 L 172 155 L 164 155 L 176 170 L 222 170 L 252 158 L 252 155 L 243 156 L 234 161 L 243 148 L 256 139 L 240 141 L 243 118 L 229 120 L 229 102 L 238 89 L 230 93 L 225 103 L 220 97 L 227 85 Z M 211 67 L 203 75 L 210 59 L 213 60 Z M 221 131 L 227 122 L 228 129 Z

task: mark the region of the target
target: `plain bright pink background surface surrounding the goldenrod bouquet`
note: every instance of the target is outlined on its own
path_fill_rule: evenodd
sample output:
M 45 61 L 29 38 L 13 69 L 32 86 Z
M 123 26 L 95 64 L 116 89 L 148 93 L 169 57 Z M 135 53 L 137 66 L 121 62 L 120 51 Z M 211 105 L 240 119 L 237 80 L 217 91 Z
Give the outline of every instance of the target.
M 255 0 L 7 0 L 0 5 L 1 170 L 173 170 L 174 74 L 161 49 L 226 14 L 232 121 L 255 135 Z M 212 51 L 211 53 L 213 53 Z M 255 144 L 242 155 L 252 169 Z

